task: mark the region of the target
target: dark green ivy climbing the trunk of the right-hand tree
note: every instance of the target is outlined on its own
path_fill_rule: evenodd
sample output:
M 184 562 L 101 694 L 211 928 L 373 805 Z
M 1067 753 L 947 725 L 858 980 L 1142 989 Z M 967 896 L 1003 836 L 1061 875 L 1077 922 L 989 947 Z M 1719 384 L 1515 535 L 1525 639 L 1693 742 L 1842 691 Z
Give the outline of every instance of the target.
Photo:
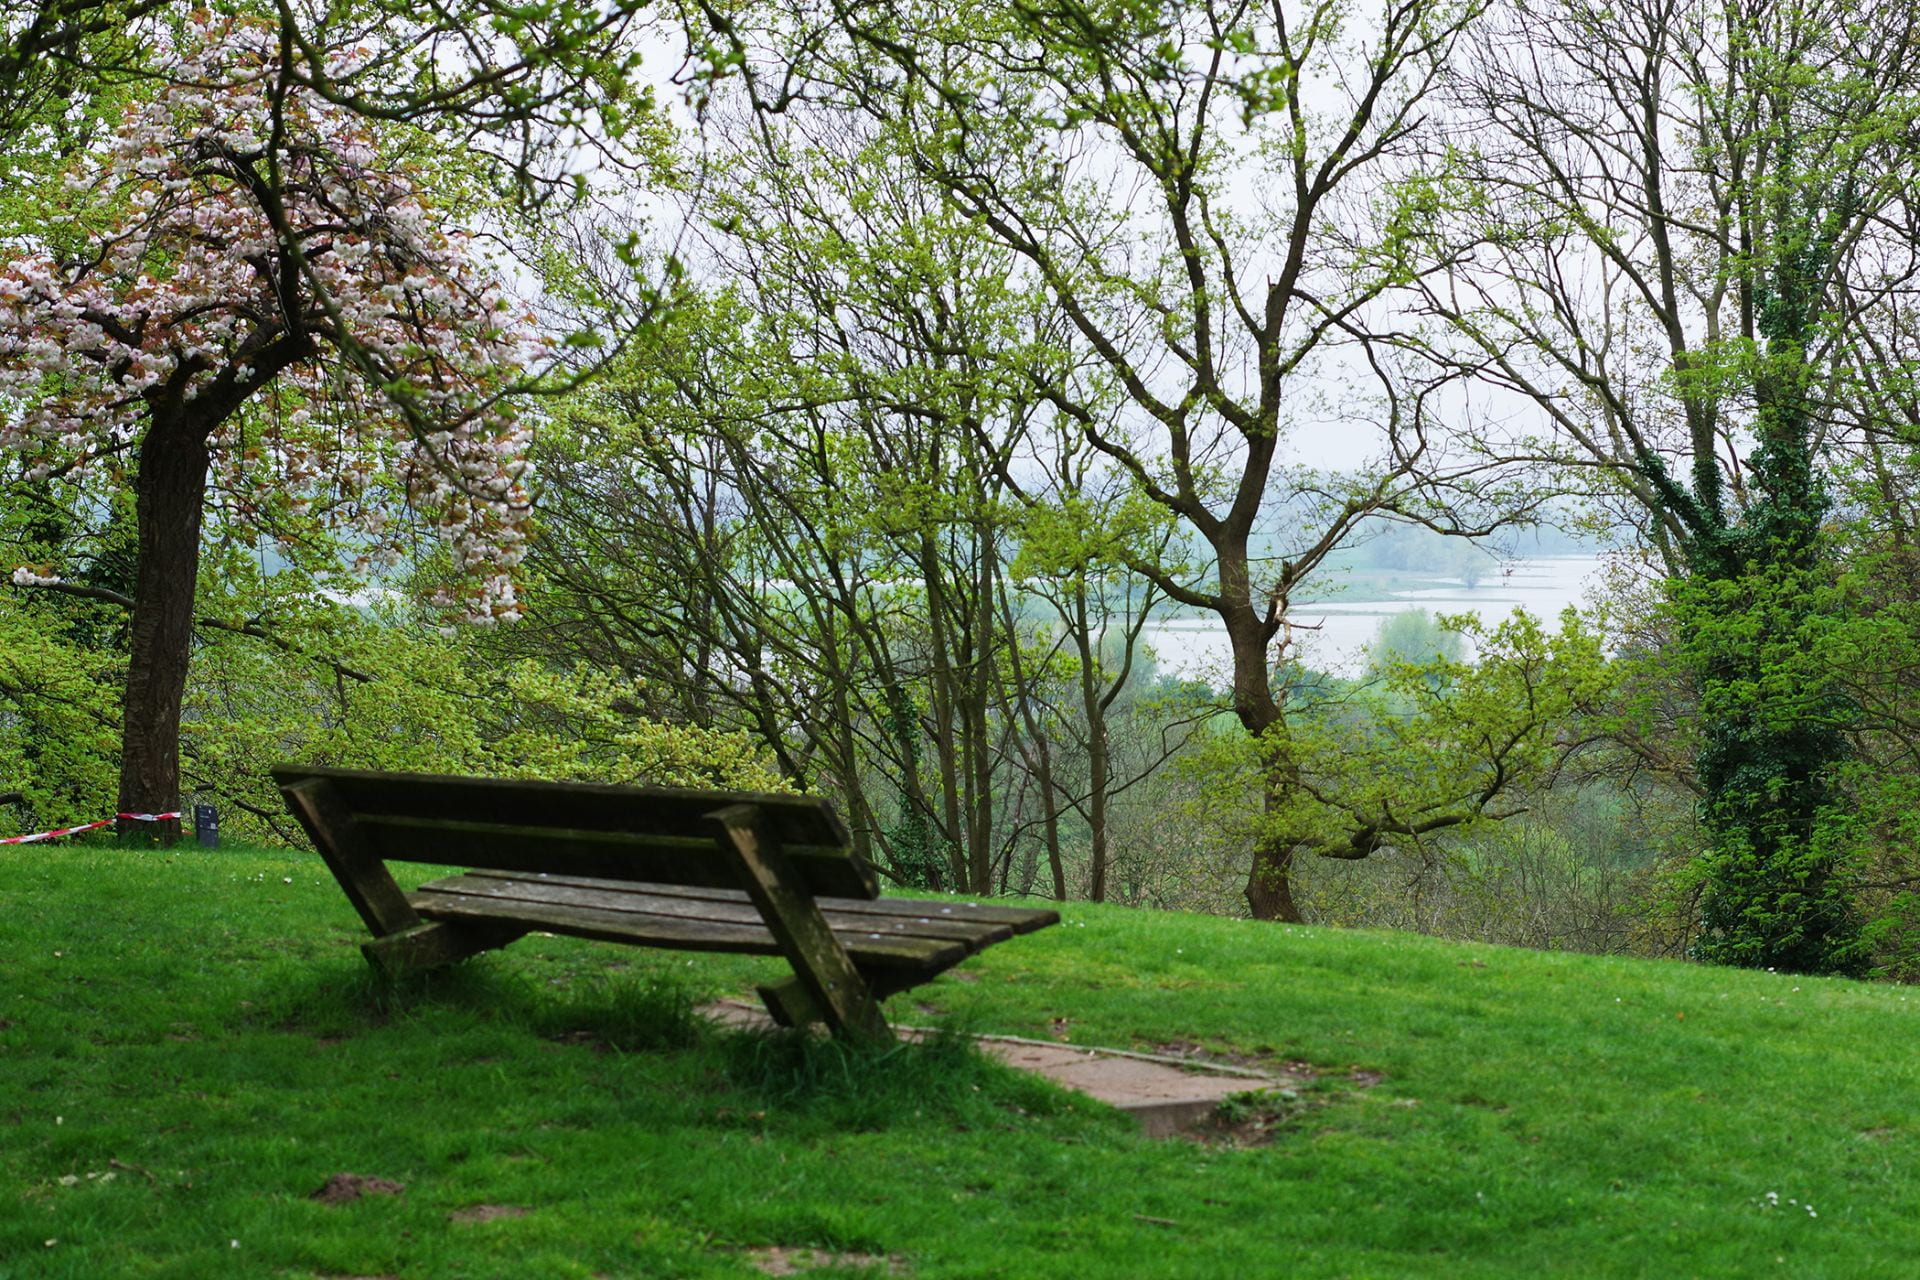
M 1761 50 L 1795 94 L 1860 92 L 1795 52 Z M 1822 533 L 1832 501 L 1814 409 L 1824 376 L 1814 347 L 1834 324 L 1822 292 L 1859 213 L 1855 175 L 1826 165 L 1853 154 L 1853 132 L 1870 130 L 1878 106 L 1866 111 L 1843 117 L 1837 136 L 1797 111 L 1772 121 L 1778 157 L 1763 198 L 1772 225 L 1751 276 L 1763 342 L 1740 351 L 1755 405 L 1751 497 L 1730 526 L 1701 530 L 1692 578 L 1672 585 L 1705 720 L 1699 954 L 1795 973 L 1868 965 L 1847 865 L 1853 814 L 1836 785 L 1859 708 L 1830 658 L 1845 603 Z

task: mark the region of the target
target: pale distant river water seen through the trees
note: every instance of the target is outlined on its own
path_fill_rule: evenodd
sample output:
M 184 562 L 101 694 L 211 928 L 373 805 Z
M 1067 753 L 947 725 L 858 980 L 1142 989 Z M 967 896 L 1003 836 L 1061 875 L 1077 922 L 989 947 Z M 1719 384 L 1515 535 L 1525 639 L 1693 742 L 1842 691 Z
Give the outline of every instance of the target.
M 1365 647 L 1379 633 L 1382 618 L 1425 608 L 1430 614 L 1476 614 L 1492 624 L 1524 608 L 1553 624 L 1569 604 L 1586 603 L 1599 568 L 1601 557 L 1592 555 L 1538 557 L 1496 568 L 1473 587 L 1457 578 L 1432 578 L 1428 587 L 1392 591 L 1384 599 L 1340 595 L 1300 606 L 1294 612 L 1294 639 L 1309 668 L 1357 676 L 1367 666 Z M 1169 674 L 1223 683 L 1231 672 L 1227 631 L 1217 622 L 1158 622 L 1146 628 L 1144 639 Z

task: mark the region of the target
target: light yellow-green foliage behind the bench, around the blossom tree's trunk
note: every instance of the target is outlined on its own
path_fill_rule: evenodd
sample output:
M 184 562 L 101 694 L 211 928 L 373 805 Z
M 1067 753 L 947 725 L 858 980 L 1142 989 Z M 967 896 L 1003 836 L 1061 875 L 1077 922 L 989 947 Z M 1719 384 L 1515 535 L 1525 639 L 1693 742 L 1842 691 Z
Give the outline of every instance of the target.
M 501 660 L 488 633 L 424 626 L 397 601 L 346 604 L 292 568 L 219 564 L 202 616 L 223 626 L 204 626 L 194 652 L 182 775 L 227 806 L 236 839 L 294 837 L 267 775 L 280 762 L 785 789 L 745 735 L 636 714 L 645 691 L 630 679 Z M 60 635 L 60 620 L 0 606 L 0 783 L 46 825 L 113 812 L 125 668 Z

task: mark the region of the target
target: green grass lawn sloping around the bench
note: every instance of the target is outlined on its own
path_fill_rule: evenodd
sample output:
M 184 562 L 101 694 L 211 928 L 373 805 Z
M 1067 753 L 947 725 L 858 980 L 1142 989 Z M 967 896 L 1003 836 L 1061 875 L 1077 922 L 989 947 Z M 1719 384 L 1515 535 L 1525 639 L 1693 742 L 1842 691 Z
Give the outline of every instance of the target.
M 1920 1270 L 1920 994 L 1066 921 L 889 1007 L 1302 1059 L 1321 1105 L 1267 1146 L 1148 1142 L 952 1042 L 689 1017 L 764 961 L 528 938 L 392 992 L 313 856 L 0 848 L 0 1276 Z M 309 1199 L 336 1173 L 405 1192 Z

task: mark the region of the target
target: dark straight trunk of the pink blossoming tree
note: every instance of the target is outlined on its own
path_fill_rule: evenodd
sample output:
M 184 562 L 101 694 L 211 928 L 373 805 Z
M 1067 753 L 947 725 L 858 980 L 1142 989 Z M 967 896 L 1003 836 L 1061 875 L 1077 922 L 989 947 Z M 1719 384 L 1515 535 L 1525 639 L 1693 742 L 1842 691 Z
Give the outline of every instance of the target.
M 180 808 L 180 699 L 194 651 L 194 589 L 200 580 L 200 518 L 207 495 L 207 436 L 182 424 L 154 424 L 140 443 L 127 695 L 121 702 L 123 814 Z M 180 823 L 123 821 L 121 837 L 173 842 Z

